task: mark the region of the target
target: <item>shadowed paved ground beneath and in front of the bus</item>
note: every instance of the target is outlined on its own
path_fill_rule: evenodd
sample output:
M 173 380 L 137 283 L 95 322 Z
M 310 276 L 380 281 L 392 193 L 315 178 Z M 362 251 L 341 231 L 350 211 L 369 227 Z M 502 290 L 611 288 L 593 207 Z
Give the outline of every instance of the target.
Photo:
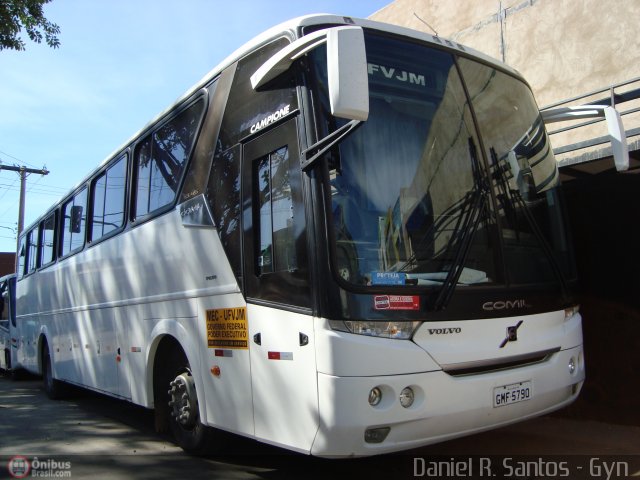
M 7 463 L 17 455 L 40 472 L 94 479 L 435 478 L 429 470 L 434 457 L 441 478 L 500 478 L 505 472 L 510 478 L 640 477 L 640 427 L 560 416 L 358 460 L 315 459 L 231 436 L 227 444 L 219 456 L 190 457 L 153 431 L 146 409 L 87 392 L 51 401 L 39 380 L 0 377 L 0 478 L 11 478 Z M 527 455 L 525 470 L 518 470 L 519 455 Z M 505 464 L 510 456 L 516 458 Z M 491 470 L 482 470 L 487 462 Z

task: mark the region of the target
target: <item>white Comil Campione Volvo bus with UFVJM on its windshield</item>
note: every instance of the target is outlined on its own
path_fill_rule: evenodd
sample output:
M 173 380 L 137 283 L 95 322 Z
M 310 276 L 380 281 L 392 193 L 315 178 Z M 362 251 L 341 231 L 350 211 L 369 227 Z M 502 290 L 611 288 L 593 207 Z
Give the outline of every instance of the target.
M 25 230 L 16 361 L 191 452 L 366 456 L 559 409 L 585 367 L 541 118 L 455 42 L 280 25 Z

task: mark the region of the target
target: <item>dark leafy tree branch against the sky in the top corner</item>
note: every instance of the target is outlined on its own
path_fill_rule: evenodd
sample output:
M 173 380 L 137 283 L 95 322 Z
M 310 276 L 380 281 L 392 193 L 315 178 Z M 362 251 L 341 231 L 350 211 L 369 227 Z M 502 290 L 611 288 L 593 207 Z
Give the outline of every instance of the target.
M 0 50 L 24 50 L 24 28 L 31 41 L 42 39 L 52 48 L 60 46 L 60 27 L 44 17 L 42 6 L 51 0 L 0 0 Z

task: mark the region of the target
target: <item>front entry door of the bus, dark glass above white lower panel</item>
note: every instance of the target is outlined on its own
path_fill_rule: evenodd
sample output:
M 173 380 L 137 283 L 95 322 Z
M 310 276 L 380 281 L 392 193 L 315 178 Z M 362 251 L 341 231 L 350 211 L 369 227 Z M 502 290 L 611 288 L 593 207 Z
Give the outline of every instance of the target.
M 318 429 L 297 119 L 243 147 L 244 292 L 255 435 L 308 451 Z

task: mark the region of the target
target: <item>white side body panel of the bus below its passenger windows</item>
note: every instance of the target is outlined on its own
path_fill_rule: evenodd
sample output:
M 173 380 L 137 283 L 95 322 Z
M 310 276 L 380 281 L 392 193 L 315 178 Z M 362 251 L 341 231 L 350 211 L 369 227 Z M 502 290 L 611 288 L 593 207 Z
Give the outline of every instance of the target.
M 246 306 L 215 229 L 185 228 L 172 210 L 19 285 L 20 357 L 34 373 L 45 332 L 55 378 L 151 407 L 152 344 L 182 331 L 203 420 L 253 435 L 248 348 L 207 345 L 207 310 Z

